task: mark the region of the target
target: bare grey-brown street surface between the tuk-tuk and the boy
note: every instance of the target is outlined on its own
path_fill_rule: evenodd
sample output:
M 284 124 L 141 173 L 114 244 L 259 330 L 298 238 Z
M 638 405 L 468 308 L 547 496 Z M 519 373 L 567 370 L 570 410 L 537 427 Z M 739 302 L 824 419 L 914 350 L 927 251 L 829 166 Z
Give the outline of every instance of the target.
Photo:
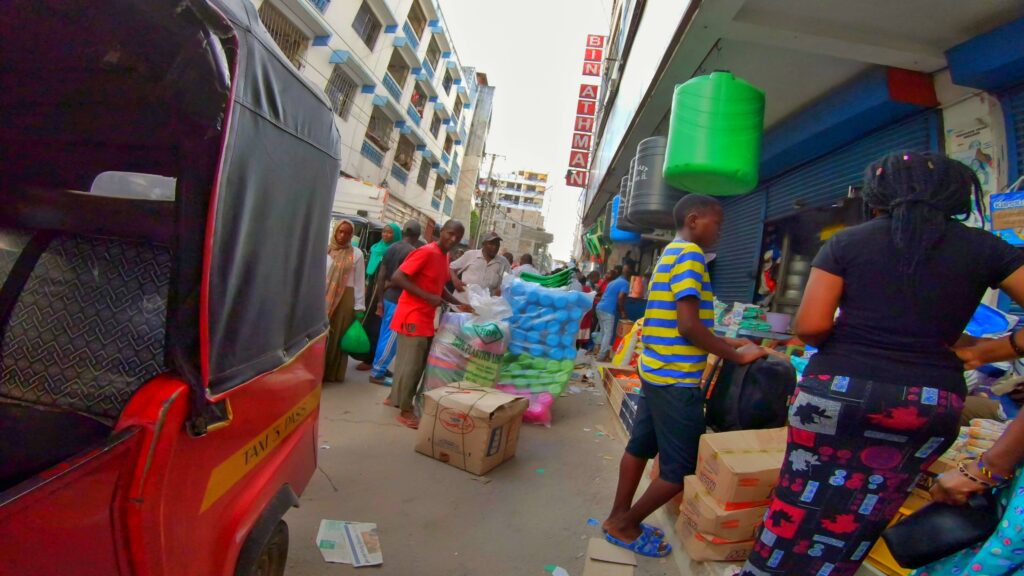
M 322 471 L 286 517 L 289 576 L 532 576 L 547 565 L 582 574 L 587 540 L 600 536 L 587 520 L 607 512 L 624 447 L 600 387 L 558 399 L 551 428 L 524 425 L 516 457 L 484 483 L 416 453 L 417 433 L 380 404 L 388 388 L 354 368 L 324 387 Z M 377 523 L 384 565 L 325 563 L 313 544 L 321 519 Z M 641 559 L 637 573 L 678 576 L 677 560 Z

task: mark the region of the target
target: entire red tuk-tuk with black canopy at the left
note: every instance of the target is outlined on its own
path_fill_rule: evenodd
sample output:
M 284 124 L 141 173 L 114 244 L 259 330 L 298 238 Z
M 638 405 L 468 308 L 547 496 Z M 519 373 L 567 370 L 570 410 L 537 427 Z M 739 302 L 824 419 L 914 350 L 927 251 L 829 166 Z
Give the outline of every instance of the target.
M 249 0 L 11 0 L 0 38 L 0 572 L 282 574 L 330 104 Z

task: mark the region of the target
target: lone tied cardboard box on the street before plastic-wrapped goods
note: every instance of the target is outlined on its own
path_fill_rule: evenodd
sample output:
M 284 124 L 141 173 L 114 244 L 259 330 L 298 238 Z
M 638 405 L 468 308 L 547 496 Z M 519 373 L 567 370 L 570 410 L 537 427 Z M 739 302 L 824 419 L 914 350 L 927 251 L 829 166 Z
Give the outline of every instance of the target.
M 515 456 L 529 402 L 469 382 L 423 395 L 416 451 L 477 476 Z

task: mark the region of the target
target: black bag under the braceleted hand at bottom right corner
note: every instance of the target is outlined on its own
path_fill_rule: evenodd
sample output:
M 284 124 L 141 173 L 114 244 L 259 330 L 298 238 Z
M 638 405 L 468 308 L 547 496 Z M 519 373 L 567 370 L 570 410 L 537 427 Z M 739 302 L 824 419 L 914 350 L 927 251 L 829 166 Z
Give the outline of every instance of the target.
M 978 544 L 995 532 L 1001 513 L 992 492 L 965 506 L 932 502 L 889 527 L 882 539 L 903 568 L 921 568 Z

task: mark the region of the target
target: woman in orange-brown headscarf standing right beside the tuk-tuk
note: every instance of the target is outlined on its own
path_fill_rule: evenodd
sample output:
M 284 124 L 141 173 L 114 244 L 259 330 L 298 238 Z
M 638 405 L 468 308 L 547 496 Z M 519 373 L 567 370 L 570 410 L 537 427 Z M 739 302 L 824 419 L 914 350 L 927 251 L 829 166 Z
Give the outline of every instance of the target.
M 327 341 L 326 382 L 345 380 L 348 355 L 341 351 L 341 337 L 355 321 L 356 313 L 361 317 L 366 310 L 366 264 L 362 251 L 352 247 L 354 230 L 352 222 L 339 220 L 328 249 L 327 316 L 331 335 Z

